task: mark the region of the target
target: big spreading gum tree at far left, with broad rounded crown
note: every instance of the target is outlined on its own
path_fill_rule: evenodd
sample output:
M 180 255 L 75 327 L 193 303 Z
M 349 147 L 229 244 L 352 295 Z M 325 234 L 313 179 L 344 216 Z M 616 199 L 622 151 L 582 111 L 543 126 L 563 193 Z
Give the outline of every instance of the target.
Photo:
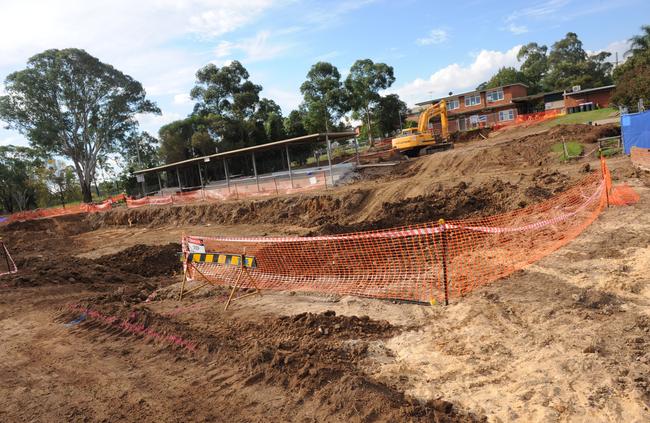
M 139 82 L 79 49 L 31 57 L 5 90 L 0 118 L 34 148 L 72 160 L 86 202 L 98 160 L 133 132 L 136 114 L 160 113 Z

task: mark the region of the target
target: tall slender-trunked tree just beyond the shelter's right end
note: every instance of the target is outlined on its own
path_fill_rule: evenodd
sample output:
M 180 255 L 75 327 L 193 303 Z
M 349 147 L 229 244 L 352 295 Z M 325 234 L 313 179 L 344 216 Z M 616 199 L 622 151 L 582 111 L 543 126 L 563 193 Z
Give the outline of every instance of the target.
M 374 63 L 370 59 L 357 60 L 345 79 L 350 107 L 354 118 L 365 117 L 368 125 L 368 142 L 372 146 L 372 108 L 379 102 L 380 90 L 393 85 L 393 67 L 385 63 Z

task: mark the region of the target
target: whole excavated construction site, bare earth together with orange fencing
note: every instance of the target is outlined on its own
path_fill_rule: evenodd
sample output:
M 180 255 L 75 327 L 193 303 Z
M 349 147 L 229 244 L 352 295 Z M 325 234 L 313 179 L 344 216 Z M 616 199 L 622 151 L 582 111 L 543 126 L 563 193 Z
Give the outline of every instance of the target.
M 599 158 L 618 134 L 10 220 L 0 418 L 649 421 L 650 171 Z

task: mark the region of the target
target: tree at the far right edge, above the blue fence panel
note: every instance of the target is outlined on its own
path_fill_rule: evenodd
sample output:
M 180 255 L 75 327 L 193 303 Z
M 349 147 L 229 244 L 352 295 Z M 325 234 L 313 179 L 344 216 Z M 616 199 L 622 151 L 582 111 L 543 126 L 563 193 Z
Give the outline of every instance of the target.
M 636 110 L 639 99 L 650 104 L 650 25 L 641 27 L 642 34 L 630 38 L 627 61 L 614 71 L 616 90 L 612 103 Z

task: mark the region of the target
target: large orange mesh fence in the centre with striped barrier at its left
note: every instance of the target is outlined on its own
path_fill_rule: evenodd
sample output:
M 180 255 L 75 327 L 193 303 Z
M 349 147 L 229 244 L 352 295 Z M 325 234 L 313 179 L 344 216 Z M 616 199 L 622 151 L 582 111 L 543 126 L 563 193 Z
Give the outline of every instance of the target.
M 611 179 L 602 166 L 547 201 L 486 218 L 315 237 L 184 236 L 186 276 L 240 288 L 446 303 L 577 237 L 607 205 Z

